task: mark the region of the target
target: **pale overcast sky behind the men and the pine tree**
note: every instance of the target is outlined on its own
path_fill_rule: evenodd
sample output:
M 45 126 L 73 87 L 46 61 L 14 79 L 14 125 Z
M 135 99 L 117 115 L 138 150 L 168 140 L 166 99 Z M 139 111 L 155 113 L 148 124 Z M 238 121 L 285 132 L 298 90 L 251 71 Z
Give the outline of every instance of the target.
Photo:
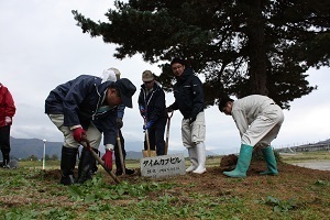
M 103 14 L 109 8 L 113 8 L 113 1 L 0 1 L 0 81 L 10 89 L 16 106 L 11 136 L 62 142 L 62 133 L 44 113 L 50 91 L 78 75 L 101 76 L 103 69 L 116 67 L 138 88 L 134 108 L 125 110 L 123 135 L 128 142 L 143 140 L 143 120 L 136 105 L 141 74 L 150 69 L 160 75 L 161 69 L 144 63 L 141 55 L 116 59 L 112 56 L 116 46 L 105 44 L 101 37 L 82 34 L 72 14 L 72 10 L 78 10 L 95 21 L 107 21 Z M 285 110 L 285 122 L 273 142 L 275 147 L 330 139 L 329 68 L 310 69 L 307 74 L 310 85 L 318 85 L 318 90 L 292 102 L 290 111 Z M 173 100 L 173 94 L 166 94 L 167 106 Z M 176 111 L 170 123 L 172 150 L 185 150 L 180 120 L 182 114 Z M 221 154 L 239 151 L 240 136 L 231 117 L 211 107 L 206 110 L 206 125 L 207 150 Z

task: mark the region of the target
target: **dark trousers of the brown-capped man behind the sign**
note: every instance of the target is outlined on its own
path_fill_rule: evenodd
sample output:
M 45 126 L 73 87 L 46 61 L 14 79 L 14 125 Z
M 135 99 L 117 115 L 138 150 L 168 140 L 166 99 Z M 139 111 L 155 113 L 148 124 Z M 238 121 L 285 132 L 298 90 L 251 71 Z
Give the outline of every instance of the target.
M 148 129 L 150 150 L 156 150 L 157 156 L 165 155 L 165 133 L 166 120 L 161 120 Z M 146 141 L 144 140 L 144 150 L 147 150 Z

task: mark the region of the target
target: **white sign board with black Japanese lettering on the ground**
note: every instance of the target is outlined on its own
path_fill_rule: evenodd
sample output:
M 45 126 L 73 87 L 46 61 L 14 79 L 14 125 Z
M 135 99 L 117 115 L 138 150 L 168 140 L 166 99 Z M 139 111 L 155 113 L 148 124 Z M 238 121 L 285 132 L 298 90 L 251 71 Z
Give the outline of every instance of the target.
M 140 160 L 141 176 L 160 178 L 185 175 L 184 154 L 144 157 Z

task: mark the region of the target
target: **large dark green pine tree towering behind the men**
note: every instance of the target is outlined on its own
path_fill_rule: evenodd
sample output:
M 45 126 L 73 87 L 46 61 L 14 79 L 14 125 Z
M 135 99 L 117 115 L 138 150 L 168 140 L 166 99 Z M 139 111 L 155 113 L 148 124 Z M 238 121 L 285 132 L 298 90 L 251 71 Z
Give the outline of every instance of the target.
M 116 1 L 95 22 L 73 11 L 90 36 L 117 44 L 114 57 L 136 53 L 145 62 L 187 58 L 204 75 L 207 106 L 223 95 L 272 97 L 283 108 L 310 94 L 306 72 L 329 66 L 330 2 L 327 0 L 130 0 Z M 173 75 L 158 79 L 170 90 Z

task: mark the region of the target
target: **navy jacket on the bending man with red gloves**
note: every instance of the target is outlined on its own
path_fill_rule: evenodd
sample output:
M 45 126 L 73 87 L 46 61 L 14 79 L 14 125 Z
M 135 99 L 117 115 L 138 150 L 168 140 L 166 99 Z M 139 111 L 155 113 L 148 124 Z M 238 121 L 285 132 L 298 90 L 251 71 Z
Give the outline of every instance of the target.
M 103 144 L 116 144 L 118 108 L 99 108 L 106 100 L 112 81 L 101 84 L 101 78 L 81 75 L 52 90 L 45 101 L 45 113 L 64 114 L 64 125 L 81 124 L 88 129 L 90 122 L 103 132 Z M 99 110 L 99 111 L 98 111 Z

